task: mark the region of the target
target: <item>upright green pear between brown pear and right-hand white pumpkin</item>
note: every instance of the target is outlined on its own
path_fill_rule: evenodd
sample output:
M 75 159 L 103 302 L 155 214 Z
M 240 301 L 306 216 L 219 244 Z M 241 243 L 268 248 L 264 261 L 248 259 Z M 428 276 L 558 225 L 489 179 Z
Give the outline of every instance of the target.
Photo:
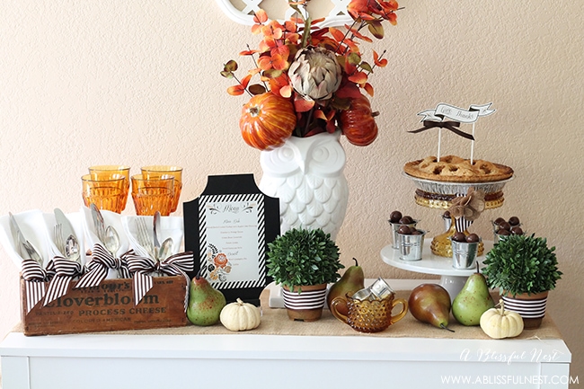
M 493 306 L 495 302 L 492 300 L 487 280 L 479 271 L 477 262 L 476 272 L 466 279 L 465 286 L 452 302 L 452 314 L 458 323 L 479 325 L 481 315 Z

